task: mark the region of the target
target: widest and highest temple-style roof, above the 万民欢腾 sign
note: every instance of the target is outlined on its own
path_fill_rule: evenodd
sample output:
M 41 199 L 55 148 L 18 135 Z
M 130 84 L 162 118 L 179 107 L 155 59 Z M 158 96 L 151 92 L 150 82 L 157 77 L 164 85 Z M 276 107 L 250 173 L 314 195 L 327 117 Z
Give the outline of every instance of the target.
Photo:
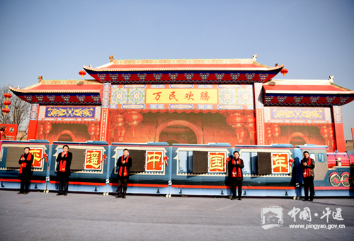
M 100 82 L 149 83 L 253 83 L 265 82 L 284 65 L 268 67 L 253 59 L 113 60 L 100 67 L 83 68 Z

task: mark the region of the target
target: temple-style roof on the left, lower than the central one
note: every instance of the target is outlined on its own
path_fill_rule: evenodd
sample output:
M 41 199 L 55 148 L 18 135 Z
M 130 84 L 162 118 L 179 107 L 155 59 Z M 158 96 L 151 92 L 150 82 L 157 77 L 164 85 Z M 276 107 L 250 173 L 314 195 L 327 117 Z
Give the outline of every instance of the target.
M 43 79 L 24 89 L 9 89 L 29 103 L 98 105 L 102 88 L 103 84 L 94 79 Z

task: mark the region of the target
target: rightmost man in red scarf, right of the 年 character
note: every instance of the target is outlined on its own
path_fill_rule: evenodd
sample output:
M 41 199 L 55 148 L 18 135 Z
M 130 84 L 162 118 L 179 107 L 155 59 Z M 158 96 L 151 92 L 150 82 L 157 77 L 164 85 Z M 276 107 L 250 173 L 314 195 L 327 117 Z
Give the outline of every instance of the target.
M 314 159 L 309 157 L 309 152 L 304 152 L 300 168 L 302 169 L 302 180 L 304 181 L 304 201 L 314 201 Z

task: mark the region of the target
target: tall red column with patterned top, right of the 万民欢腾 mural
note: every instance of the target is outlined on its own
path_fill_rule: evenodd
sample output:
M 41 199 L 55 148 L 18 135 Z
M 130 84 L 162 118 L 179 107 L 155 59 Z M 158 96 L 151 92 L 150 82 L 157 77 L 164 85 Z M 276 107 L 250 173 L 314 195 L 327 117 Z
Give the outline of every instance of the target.
M 264 105 L 262 98 L 262 87 L 261 83 L 254 83 L 254 106 L 256 108 L 256 136 L 257 140 L 255 145 L 265 145 L 264 142 Z

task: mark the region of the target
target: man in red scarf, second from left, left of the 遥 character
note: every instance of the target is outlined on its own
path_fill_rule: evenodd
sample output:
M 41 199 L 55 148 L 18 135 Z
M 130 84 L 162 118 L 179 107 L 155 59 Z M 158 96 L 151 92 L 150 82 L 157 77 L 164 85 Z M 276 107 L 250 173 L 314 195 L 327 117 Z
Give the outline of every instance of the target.
M 70 165 L 72 164 L 72 152 L 69 152 L 67 145 L 63 146 L 63 152 L 60 152 L 56 162 L 59 162 L 57 177 L 59 179 L 59 191 L 57 196 L 67 196 L 69 188 Z

